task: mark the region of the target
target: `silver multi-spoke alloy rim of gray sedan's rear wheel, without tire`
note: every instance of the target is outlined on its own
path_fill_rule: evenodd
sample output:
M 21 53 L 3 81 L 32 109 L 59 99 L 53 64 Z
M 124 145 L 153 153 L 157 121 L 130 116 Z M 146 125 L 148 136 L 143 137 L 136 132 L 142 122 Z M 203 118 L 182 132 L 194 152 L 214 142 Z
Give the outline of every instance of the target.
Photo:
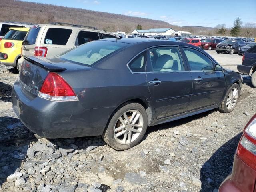
M 128 110 L 118 118 L 114 138 L 120 144 L 130 144 L 140 136 L 142 128 L 142 114 L 138 110 Z

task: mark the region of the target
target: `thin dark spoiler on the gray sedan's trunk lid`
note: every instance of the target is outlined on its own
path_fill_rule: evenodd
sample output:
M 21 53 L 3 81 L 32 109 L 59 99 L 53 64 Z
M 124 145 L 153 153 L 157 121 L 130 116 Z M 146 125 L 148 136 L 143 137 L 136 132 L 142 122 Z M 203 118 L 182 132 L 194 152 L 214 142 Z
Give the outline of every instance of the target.
M 34 56 L 23 56 L 23 58 L 29 62 L 31 62 L 32 64 L 39 66 L 41 68 L 44 68 L 50 72 L 60 72 L 60 71 L 65 71 L 66 68 L 54 65 L 50 62 L 46 62 L 44 60 L 41 60 L 39 58 L 36 58 Z

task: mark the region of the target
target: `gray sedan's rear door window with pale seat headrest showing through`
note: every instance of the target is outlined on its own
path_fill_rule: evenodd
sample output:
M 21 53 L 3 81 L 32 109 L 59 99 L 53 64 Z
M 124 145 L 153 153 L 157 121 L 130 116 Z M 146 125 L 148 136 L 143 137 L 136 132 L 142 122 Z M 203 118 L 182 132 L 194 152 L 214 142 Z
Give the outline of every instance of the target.
M 184 71 L 178 47 L 158 47 L 150 49 L 151 66 L 149 71 L 170 72 Z

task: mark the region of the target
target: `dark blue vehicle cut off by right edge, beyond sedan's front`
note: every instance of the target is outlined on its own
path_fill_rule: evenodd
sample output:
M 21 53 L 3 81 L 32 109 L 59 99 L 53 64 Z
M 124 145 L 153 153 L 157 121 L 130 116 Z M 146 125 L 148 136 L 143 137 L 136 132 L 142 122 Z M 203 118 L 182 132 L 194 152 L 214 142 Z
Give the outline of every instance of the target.
M 242 65 L 238 65 L 237 70 L 242 74 L 252 76 L 252 85 L 256 88 L 256 45 L 244 53 Z

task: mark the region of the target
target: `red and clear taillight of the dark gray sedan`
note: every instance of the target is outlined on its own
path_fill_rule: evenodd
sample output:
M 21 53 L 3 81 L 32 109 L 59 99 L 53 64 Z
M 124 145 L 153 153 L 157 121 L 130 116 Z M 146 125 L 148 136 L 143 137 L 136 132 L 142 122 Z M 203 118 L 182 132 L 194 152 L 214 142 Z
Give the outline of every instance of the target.
M 54 101 L 78 100 L 70 85 L 56 73 L 46 76 L 39 96 Z

